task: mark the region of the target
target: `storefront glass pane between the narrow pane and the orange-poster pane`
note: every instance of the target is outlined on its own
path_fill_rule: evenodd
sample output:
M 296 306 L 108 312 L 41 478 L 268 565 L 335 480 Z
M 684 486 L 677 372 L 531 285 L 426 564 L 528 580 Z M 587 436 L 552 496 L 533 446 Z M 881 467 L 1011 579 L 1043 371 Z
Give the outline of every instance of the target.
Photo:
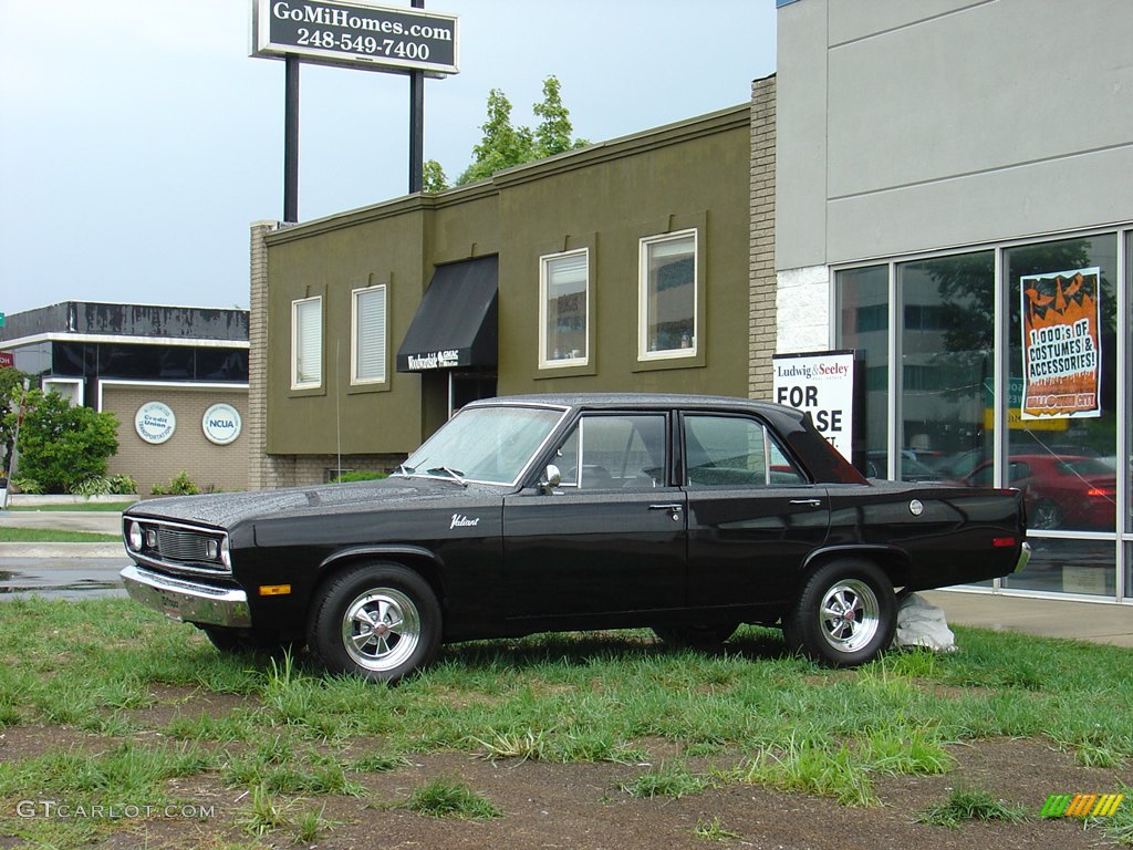
M 993 458 L 995 254 L 897 265 L 904 481 L 961 481 Z

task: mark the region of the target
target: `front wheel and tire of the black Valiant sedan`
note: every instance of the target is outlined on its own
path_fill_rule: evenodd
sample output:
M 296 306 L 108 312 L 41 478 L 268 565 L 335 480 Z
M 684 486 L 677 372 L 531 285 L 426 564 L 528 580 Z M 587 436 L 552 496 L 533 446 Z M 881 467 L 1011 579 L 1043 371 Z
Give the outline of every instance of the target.
M 428 583 L 401 564 L 360 563 L 315 596 L 307 646 L 323 666 L 395 682 L 427 665 L 441 645 L 441 606 Z

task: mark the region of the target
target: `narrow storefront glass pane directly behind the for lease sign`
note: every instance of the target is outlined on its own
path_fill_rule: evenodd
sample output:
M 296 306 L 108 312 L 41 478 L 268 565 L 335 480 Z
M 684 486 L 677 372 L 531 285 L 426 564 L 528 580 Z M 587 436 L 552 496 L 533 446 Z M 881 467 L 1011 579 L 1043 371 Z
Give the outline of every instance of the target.
M 864 403 L 854 426 L 854 466 L 871 477 L 884 478 L 888 469 L 886 428 L 889 401 L 889 267 L 874 265 L 835 274 L 837 297 L 837 348 L 853 349 L 861 363 L 859 389 Z

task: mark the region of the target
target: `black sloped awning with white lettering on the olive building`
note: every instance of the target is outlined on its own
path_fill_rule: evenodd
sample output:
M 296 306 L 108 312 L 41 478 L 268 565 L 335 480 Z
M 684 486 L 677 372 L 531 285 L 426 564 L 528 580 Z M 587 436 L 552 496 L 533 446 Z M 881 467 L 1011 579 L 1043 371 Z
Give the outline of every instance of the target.
M 437 266 L 398 349 L 398 372 L 496 365 L 499 269 L 495 255 Z

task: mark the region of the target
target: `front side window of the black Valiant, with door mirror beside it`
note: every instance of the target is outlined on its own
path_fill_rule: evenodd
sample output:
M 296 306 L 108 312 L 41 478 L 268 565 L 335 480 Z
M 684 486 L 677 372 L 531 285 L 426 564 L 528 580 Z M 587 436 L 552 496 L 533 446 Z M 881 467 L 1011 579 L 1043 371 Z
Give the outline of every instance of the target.
M 560 486 L 651 490 L 665 483 L 663 414 L 583 415 L 559 447 Z

